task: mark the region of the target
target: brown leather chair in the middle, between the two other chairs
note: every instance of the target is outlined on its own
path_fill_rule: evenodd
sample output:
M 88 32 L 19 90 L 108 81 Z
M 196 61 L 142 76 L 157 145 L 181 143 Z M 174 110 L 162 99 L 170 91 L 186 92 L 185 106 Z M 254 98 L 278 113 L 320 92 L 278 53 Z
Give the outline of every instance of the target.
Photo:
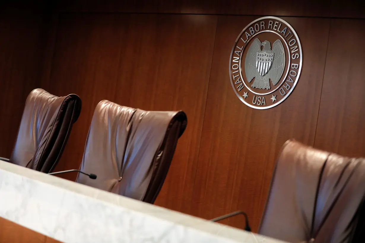
M 80 168 L 97 179 L 79 173 L 76 181 L 153 203 L 186 125 L 183 111 L 144 111 L 101 101 Z

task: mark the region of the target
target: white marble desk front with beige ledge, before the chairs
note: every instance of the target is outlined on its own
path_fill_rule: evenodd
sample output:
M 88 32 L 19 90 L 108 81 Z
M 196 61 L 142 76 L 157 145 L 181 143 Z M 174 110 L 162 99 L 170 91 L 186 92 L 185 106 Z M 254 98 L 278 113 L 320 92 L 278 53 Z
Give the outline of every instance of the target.
M 67 243 L 280 243 L 1 160 L 0 217 Z

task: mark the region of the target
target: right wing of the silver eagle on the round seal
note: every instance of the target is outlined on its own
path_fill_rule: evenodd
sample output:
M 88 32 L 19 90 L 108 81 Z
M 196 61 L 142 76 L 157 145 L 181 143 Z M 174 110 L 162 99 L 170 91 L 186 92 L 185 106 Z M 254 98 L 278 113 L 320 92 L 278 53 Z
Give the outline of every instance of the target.
M 285 52 L 283 44 L 280 40 L 276 40 L 273 44 L 272 51 L 274 53 L 274 60 L 271 65 L 270 71 L 268 72 L 269 78 L 273 85 L 279 82 L 281 75 L 283 75 L 284 65 L 285 65 Z

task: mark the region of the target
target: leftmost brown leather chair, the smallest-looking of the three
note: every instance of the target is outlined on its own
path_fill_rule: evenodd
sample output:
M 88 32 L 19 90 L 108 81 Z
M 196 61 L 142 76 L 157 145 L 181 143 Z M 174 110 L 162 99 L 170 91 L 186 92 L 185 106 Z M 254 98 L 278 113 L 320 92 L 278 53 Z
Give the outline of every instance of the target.
M 35 89 L 28 95 L 10 162 L 49 173 L 64 150 L 72 125 L 81 111 L 81 99 L 51 95 Z

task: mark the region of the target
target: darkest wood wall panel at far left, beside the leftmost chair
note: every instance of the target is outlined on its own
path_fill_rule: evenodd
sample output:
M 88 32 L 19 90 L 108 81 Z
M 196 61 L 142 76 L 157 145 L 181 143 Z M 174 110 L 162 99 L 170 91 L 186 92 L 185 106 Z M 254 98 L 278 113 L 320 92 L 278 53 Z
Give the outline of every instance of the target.
M 0 156 L 11 155 L 28 93 L 38 85 L 42 16 L 0 4 Z

